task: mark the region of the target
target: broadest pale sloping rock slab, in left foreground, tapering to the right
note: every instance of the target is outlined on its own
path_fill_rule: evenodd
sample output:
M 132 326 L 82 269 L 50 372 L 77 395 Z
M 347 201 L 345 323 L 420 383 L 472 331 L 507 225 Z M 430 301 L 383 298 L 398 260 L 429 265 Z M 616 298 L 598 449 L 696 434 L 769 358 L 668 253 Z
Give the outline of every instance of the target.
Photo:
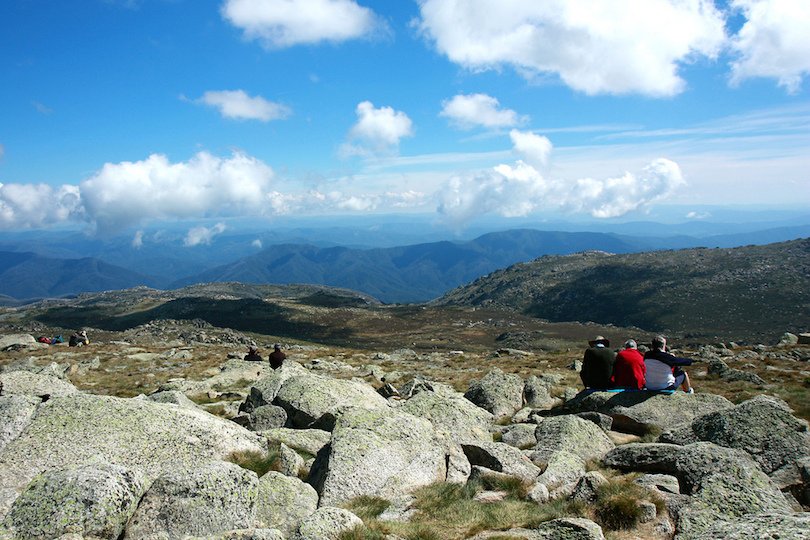
M 266 445 L 258 435 L 201 410 L 83 393 L 52 398 L 0 450 L 0 516 L 34 476 L 48 469 L 103 462 L 151 480 L 239 451 L 263 453 Z

